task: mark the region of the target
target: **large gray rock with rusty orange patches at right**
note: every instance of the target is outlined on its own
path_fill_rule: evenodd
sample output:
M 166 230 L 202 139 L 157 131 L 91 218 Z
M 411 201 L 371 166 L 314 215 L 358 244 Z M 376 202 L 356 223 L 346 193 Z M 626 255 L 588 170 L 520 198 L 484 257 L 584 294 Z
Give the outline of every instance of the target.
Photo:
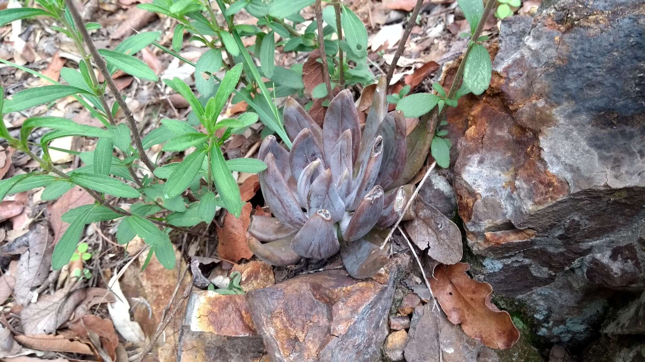
M 497 92 L 473 104 L 458 142 L 475 276 L 555 343 L 587 343 L 612 291 L 645 289 L 642 4 L 561 0 L 504 20 Z

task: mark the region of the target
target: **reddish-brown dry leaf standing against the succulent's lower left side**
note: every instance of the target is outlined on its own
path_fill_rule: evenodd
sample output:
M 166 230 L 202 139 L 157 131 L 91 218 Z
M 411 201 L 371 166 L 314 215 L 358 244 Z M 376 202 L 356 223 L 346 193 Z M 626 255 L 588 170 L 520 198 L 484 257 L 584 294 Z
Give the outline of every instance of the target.
M 217 231 L 217 252 L 221 258 L 239 262 L 242 259 L 250 259 L 253 252 L 248 248 L 246 242 L 246 229 L 251 222 L 251 204 L 248 202 L 242 207 L 242 214 L 236 218 L 233 214 L 227 213 L 224 216 L 224 226 L 215 228 Z

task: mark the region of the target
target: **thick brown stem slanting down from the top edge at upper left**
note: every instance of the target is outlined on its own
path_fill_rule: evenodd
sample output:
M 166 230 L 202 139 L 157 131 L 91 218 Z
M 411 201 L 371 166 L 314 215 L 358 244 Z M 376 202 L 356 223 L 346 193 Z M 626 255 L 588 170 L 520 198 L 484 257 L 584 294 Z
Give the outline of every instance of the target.
M 92 37 L 90 37 L 90 33 L 87 32 L 87 29 L 85 28 L 85 24 L 83 23 L 83 19 L 81 19 L 81 14 L 79 14 L 78 9 L 74 5 L 74 1 L 65 0 L 65 3 L 67 4 L 67 7 L 70 9 L 70 14 L 72 14 L 72 19 L 74 19 L 74 23 L 76 23 L 76 27 L 81 32 L 81 35 L 83 36 L 83 40 L 87 44 L 87 47 L 89 48 L 90 53 L 92 54 L 92 59 L 94 59 L 94 62 L 99 67 L 99 70 L 101 70 L 101 73 L 103 73 L 103 77 L 105 81 L 108 83 L 108 87 L 110 87 L 110 90 L 114 95 L 114 98 L 119 103 L 119 106 L 121 106 L 121 110 L 123 110 L 123 114 L 125 115 L 126 120 L 128 121 L 128 126 L 130 127 L 130 132 L 132 132 L 132 137 L 134 137 L 134 143 L 137 146 L 137 151 L 139 151 L 139 158 L 141 158 L 141 161 L 146 165 L 146 167 L 148 167 L 148 169 L 150 169 L 151 172 L 154 171 L 155 168 L 157 168 L 157 166 L 155 166 L 155 164 L 152 161 L 150 161 L 150 158 L 148 158 L 148 155 L 146 155 L 146 152 L 143 148 L 143 144 L 141 143 L 141 135 L 139 135 L 139 129 L 137 129 L 137 122 L 134 119 L 134 113 L 132 113 L 132 110 L 130 110 L 125 100 L 123 100 L 123 97 L 121 97 L 119 88 L 117 88 L 117 85 L 114 83 L 114 80 L 112 80 L 112 75 L 110 74 L 110 71 L 108 71 L 107 64 L 105 64 L 103 57 L 101 57 L 98 50 L 96 49 L 96 46 L 94 45 L 94 41 L 92 41 Z

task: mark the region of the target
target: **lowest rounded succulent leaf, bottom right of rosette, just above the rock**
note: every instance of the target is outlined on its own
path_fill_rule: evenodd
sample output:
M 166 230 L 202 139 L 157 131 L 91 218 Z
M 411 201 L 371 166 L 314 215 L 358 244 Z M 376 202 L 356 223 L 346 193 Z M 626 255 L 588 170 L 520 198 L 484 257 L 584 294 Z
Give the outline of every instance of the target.
M 388 253 L 363 238 L 341 241 L 341 258 L 346 271 L 356 279 L 370 278 L 388 262 Z

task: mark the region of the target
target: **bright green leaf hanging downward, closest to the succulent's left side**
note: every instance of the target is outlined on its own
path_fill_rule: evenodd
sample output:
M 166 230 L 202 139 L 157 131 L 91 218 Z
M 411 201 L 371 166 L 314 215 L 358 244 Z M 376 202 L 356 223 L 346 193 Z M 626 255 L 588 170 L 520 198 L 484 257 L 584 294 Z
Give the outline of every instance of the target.
M 240 190 L 237 187 L 237 182 L 231 174 L 230 169 L 226 166 L 222 150 L 217 146 L 213 146 L 210 151 L 210 171 L 213 175 L 215 182 L 215 189 L 222 198 L 222 202 L 229 213 L 239 218 L 242 213 L 242 198 Z

